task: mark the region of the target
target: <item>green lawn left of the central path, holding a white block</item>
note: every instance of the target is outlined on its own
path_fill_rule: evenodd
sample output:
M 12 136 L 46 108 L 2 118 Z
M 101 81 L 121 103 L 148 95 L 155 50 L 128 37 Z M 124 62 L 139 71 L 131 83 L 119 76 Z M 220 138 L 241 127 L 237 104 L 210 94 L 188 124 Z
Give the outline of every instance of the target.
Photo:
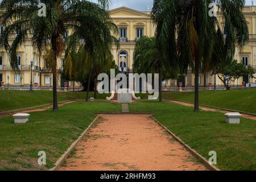
M 121 105 L 93 101 L 30 113 L 28 123 L 15 125 L 12 117 L 0 118 L 0 170 L 46 170 L 67 150 L 96 117 L 93 112 L 121 112 Z M 46 166 L 38 165 L 38 152 L 46 152 Z

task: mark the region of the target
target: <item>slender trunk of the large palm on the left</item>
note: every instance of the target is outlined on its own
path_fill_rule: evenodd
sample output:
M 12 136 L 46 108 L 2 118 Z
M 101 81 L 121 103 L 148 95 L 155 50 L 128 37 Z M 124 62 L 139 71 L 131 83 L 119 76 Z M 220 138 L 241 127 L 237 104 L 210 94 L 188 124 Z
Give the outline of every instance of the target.
M 52 51 L 53 51 L 53 61 L 52 61 L 52 83 L 53 83 L 53 111 L 57 111 L 58 109 L 58 101 L 57 101 L 57 35 L 53 35 L 51 38 L 52 43 Z

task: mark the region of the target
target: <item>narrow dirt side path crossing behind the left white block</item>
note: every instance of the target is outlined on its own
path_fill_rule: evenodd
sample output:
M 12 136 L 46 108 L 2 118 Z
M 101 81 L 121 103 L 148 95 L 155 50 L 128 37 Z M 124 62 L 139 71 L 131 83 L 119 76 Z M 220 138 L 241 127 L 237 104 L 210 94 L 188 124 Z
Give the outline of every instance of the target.
M 58 106 L 72 104 L 74 102 L 76 102 L 76 101 L 61 101 L 58 103 Z M 52 107 L 52 104 L 47 104 L 47 105 L 43 105 L 43 106 L 35 106 L 35 107 L 28 107 L 28 108 L 24 108 L 24 109 L 5 111 L 3 113 L 0 113 L 0 118 L 7 117 L 9 115 L 13 115 L 16 113 L 34 113 L 34 112 L 45 111 L 51 107 Z

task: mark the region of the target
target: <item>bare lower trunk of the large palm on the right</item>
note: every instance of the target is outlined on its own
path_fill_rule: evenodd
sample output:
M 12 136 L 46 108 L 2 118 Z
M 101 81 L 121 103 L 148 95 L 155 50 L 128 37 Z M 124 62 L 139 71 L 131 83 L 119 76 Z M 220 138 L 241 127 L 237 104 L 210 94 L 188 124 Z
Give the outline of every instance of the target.
M 195 102 L 194 111 L 199 112 L 199 59 L 195 59 Z

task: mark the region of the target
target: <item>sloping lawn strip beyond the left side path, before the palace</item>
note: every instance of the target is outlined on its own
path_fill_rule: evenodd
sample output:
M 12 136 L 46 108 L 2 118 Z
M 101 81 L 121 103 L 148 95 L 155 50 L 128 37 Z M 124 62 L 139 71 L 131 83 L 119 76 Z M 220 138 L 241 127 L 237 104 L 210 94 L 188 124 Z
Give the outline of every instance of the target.
M 85 100 L 85 92 L 58 92 L 58 101 Z M 52 91 L 0 90 L 0 112 L 52 103 Z M 90 93 L 93 96 L 93 93 Z M 98 94 L 106 98 L 110 94 Z

